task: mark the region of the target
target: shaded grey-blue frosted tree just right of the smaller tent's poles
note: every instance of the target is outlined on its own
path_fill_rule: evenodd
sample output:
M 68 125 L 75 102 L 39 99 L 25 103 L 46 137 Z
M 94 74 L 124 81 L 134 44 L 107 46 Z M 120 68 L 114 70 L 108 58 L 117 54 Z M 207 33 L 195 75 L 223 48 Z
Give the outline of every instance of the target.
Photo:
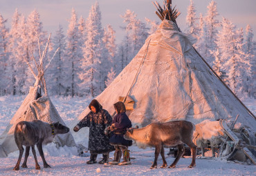
M 59 48 L 59 50 L 57 50 Z M 64 95 L 65 88 L 65 78 L 68 75 L 67 68 L 64 62 L 66 61 L 66 37 L 64 35 L 64 30 L 60 25 L 55 32 L 53 37 L 53 51 L 56 51 L 55 57 L 51 61 L 51 66 L 46 72 L 46 81 L 49 85 L 49 90 L 53 95 Z M 54 53 L 53 53 L 54 54 Z M 49 79 L 47 79 L 49 78 Z

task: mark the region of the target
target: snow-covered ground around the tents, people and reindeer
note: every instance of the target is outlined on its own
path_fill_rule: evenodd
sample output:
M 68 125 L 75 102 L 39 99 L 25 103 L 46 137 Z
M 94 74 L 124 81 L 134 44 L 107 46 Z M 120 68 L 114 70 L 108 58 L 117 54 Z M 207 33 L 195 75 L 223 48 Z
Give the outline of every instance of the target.
M 24 97 L 5 96 L 0 97 L 0 134 L 3 133 L 10 119 L 21 105 Z M 90 100 L 83 98 L 58 98 L 51 97 L 53 104 L 65 123 L 71 124 L 82 110 L 89 104 Z M 256 114 L 256 100 L 246 99 L 246 106 Z M 37 153 L 37 159 L 41 170 L 35 170 L 35 161 L 30 153 L 28 157 L 28 168 L 20 168 L 19 171 L 12 170 L 18 158 L 18 152 L 11 153 L 7 158 L 0 158 L 0 175 L 256 175 L 256 166 L 237 164 L 234 162 L 221 161 L 219 159 L 196 159 L 196 167 L 188 168 L 191 158 L 181 158 L 176 168 L 160 168 L 161 157 L 158 157 L 158 168 L 150 170 L 154 160 L 154 148 L 145 150 L 131 146 L 131 165 L 104 167 L 100 164 L 88 165 L 87 157 L 78 157 L 75 148 L 60 148 L 57 150 L 53 144 L 44 146 L 46 161 L 52 168 L 43 168 L 42 159 Z M 165 153 L 168 150 L 165 149 Z M 113 158 L 113 152 L 110 154 Z M 98 156 L 98 160 L 102 155 Z M 166 157 L 167 164 L 174 161 L 174 157 Z M 22 161 L 21 161 L 22 162 Z M 98 173 L 97 170 L 100 172 Z

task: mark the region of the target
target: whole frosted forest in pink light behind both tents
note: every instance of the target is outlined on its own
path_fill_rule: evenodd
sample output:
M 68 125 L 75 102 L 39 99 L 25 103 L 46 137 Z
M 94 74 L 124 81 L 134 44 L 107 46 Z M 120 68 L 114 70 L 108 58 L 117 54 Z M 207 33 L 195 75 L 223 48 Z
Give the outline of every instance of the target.
M 237 28 L 232 21 L 219 18 L 216 1 L 207 8 L 206 14 L 196 14 L 191 0 L 187 28 L 181 30 L 197 39 L 196 50 L 238 97 L 256 98 L 253 29 L 249 24 L 246 29 Z M 150 19 L 141 21 L 135 12 L 127 10 L 120 15 L 125 37 L 117 44 L 115 30 L 111 25 L 102 26 L 101 15 L 98 2 L 91 6 L 86 19 L 78 17 L 73 8 L 68 30 L 65 32 L 60 25 L 52 34 L 48 59 L 59 50 L 46 72 L 51 95 L 96 97 L 134 58 L 159 24 Z M 8 21 L 10 28 L 6 27 Z M 16 10 L 8 20 L 0 14 L 1 96 L 28 94 L 35 79 L 26 61 L 32 63 L 34 57 L 39 58 L 38 43 L 44 48 L 48 35 L 37 10 L 28 17 Z

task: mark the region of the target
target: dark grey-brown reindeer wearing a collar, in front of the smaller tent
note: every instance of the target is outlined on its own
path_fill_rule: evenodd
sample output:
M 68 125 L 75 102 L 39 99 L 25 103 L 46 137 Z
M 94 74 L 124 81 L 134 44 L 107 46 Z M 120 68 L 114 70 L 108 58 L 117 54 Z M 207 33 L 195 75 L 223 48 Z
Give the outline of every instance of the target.
M 31 146 L 32 153 L 35 158 L 35 169 L 37 170 L 40 169 L 40 166 L 37 162 L 37 156 L 35 154 L 35 145 L 37 145 L 39 154 L 42 157 L 44 168 L 51 168 L 51 166 L 46 163 L 46 159 L 44 159 L 42 144 L 51 143 L 55 135 L 65 134 L 68 132 L 69 132 L 69 128 L 66 126 L 63 126 L 59 122 L 48 124 L 41 120 L 20 121 L 15 127 L 15 142 L 19 148 L 19 159 L 15 168 L 13 168 L 13 170 L 19 170 L 21 157 L 24 153 L 23 145 L 26 146 L 26 153 L 25 153 L 24 163 L 21 165 L 22 168 L 28 168 L 27 159 L 28 159 L 29 150 Z

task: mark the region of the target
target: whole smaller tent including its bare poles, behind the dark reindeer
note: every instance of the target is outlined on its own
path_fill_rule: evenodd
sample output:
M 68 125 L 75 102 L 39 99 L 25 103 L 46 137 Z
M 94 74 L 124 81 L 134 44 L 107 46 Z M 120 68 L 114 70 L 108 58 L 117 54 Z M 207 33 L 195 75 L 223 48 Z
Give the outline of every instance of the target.
M 48 43 L 50 41 L 50 37 L 48 39 Z M 23 103 L 21 104 L 15 115 L 12 117 L 10 123 L 6 127 L 6 130 L 0 136 L 0 157 L 7 157 L 9 153 L 18 150 L 15 143 L 14 132 L 15 126 L 17 123 L 19 123 L 19 121 L 33 121 L 35 119 L 39 119 L 48 123 L 51 123 L 53 121 L 59 121 L 61 124 L 65 125 L 64 121 L 60 117 L 55 106 L 53 105 L 50 97 L 48 96 L 48 92 L 46 89 L 44 73 L 50 65 L 51 61 L 48 63 L 46 68 L 44 68 L 43 66 L 43 61 L 46 57 L 46 52 L 48 50 L 48 43 L 42 55 L 40 54 L 39 64 L 37 64 L 37 61 L 35 61 L 35 58 L 33 57 L 38 72 L 37 75 L 35 75 L 33 68 L 27 61 L 28 66 L 33 73 L 36 81 L 34 86 L 30 87 L 27 97 L 24 99 Z M 42 95 L 43 93 L 44 95 Z M 76 146 L 73 136 L 70 132 L 64 135 L 56 135 L 53 139 L 53 142 L 56 144 L 57 148 L 60 146 Z

